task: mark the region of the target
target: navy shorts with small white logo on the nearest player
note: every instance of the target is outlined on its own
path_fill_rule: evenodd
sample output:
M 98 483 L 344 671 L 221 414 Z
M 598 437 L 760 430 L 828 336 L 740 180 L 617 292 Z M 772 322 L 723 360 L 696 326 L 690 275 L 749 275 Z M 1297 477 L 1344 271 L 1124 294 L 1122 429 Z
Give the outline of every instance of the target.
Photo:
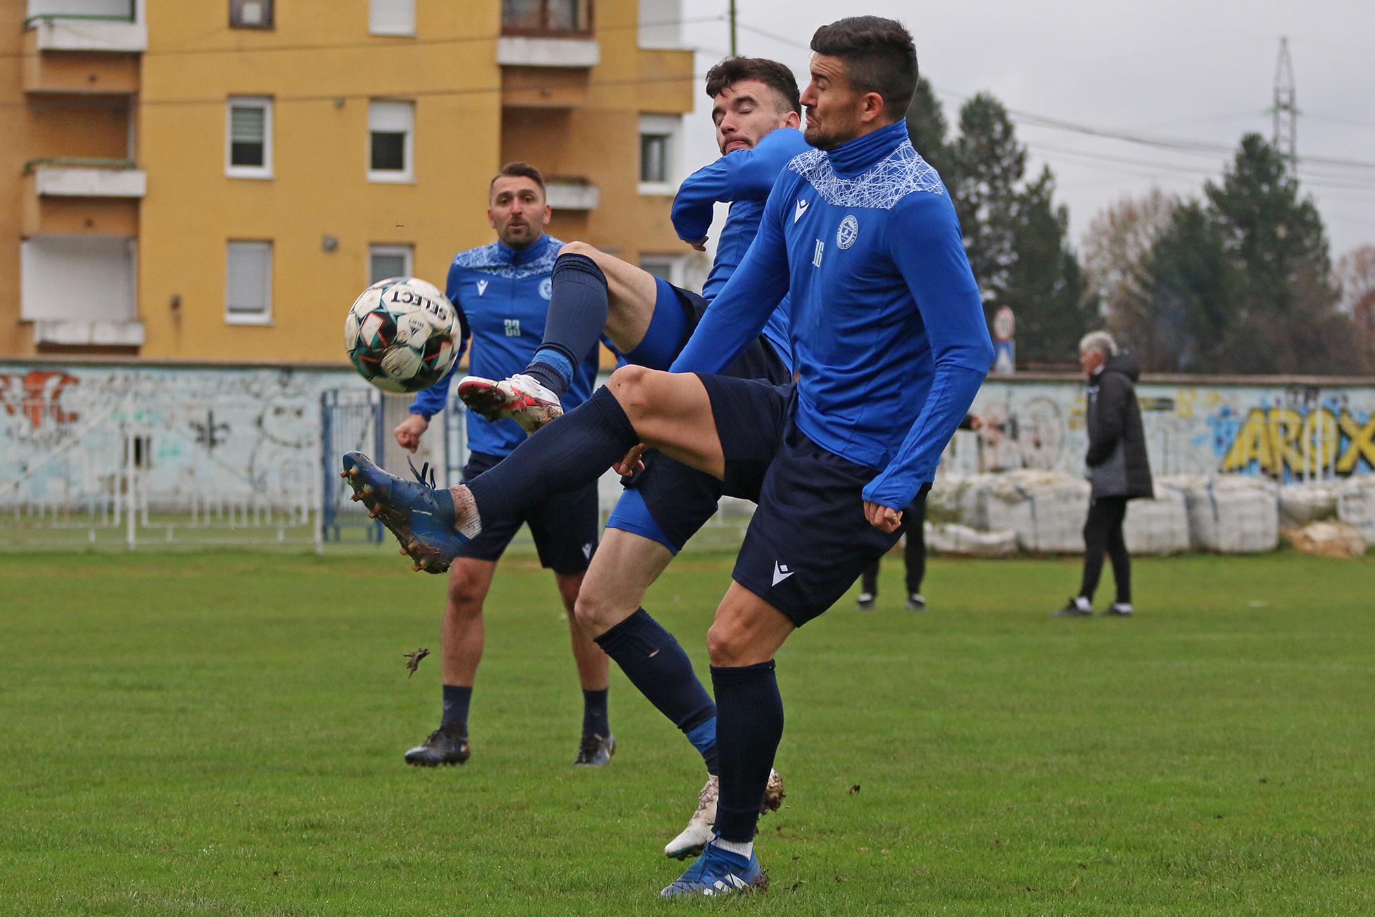
M 759 505 L 732 579 L 802 627 L 887 554 L 902 528 L 869 524 L 862 492 L 879 472 L 807 439 L 793 422 L 792 385 L 698 378 L 726 458 L 722 489 Z

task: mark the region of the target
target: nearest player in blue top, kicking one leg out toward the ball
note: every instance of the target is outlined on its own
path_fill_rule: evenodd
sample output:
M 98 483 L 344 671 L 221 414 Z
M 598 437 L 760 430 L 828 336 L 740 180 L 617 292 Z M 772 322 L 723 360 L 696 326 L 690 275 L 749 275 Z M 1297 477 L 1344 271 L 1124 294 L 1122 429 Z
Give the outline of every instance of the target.
M 989 366 L 993 342 L 960 224 L 903 115 L 916 49 L 857 16 L 813 36 L 807 140 L 769 195 L 744 261 L 671 373 L 627 366 L 503 466 L 447 495 L 356 452 L 352 487 L 412 557 L 444 557 L 488 514 L 627 470 L 646 447 L 759 503 L 707 635 L 716 694 L 716 836 L 664 896 L 763 883 L 755 825 L 778 741 L 774 653 L 902 532 Z M 716 375 L 789 296 L 796 385 Z

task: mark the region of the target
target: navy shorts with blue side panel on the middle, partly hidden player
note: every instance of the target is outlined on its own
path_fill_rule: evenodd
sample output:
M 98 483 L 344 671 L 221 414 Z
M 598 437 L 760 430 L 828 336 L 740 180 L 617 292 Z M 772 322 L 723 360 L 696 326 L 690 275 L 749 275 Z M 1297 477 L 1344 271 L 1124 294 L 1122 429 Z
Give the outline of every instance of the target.
M 660 300 L 654 307 L 656 316 L 664 305 L 664 287 L 681 297 L 683 309 L 690 311 L 686 335 L 678 342 L 678 349 L 682 349 L 682 344 L 692 335 L 703 312 L 707 311 L 707 301 L 696 293 L 660 280 Z M 646 333 L 645 338 L 648 341 L 650 334 Z M 641 349 L 644 345 L 631 353 Z M 755 340 L 734 363 L 726 367 L 723 375 L 764 379 L 773 385 L 785 385 L 792 381 L 792 373 L 786 363 L 763 337 Z M 659 452 L 650 452 L 645 456 L 645 470 L 627 478 L 626 488 L 620 500 L 616 502 L 616 509 L 606 520 L 606 528 L 634 532 L 659 542 L 674 554 L 681 551 L 688 539 L 716 514 L 722 495 L 722 483 L 711 474 L 688 467 Z

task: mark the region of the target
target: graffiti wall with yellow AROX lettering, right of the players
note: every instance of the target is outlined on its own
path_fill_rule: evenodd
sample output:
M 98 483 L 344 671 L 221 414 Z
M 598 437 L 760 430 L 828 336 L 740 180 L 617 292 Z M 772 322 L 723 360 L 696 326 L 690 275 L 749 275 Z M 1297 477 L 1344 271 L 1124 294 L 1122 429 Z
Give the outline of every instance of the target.
M 1257 474 L 1282 481 L 1375 473 L 1375 385 L 1137 386 L 1156 474 Z M 987 382 L 984 419 L 952 456 L 964 470 L 1084 467 L 1084 384 Z

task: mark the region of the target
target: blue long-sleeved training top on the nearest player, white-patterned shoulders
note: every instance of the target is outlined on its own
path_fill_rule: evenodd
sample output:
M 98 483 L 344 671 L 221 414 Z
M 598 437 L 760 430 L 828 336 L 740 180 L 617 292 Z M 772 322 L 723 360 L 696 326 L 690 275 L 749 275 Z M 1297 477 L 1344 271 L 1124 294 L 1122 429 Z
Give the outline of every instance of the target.
M 788 164 L 672 370 L 719 373 L 785 293 L 798 429 L 880 472 L 864 499 L 906 507 L 974 403 L 993 342 L 954 206 L 905 121 Z

